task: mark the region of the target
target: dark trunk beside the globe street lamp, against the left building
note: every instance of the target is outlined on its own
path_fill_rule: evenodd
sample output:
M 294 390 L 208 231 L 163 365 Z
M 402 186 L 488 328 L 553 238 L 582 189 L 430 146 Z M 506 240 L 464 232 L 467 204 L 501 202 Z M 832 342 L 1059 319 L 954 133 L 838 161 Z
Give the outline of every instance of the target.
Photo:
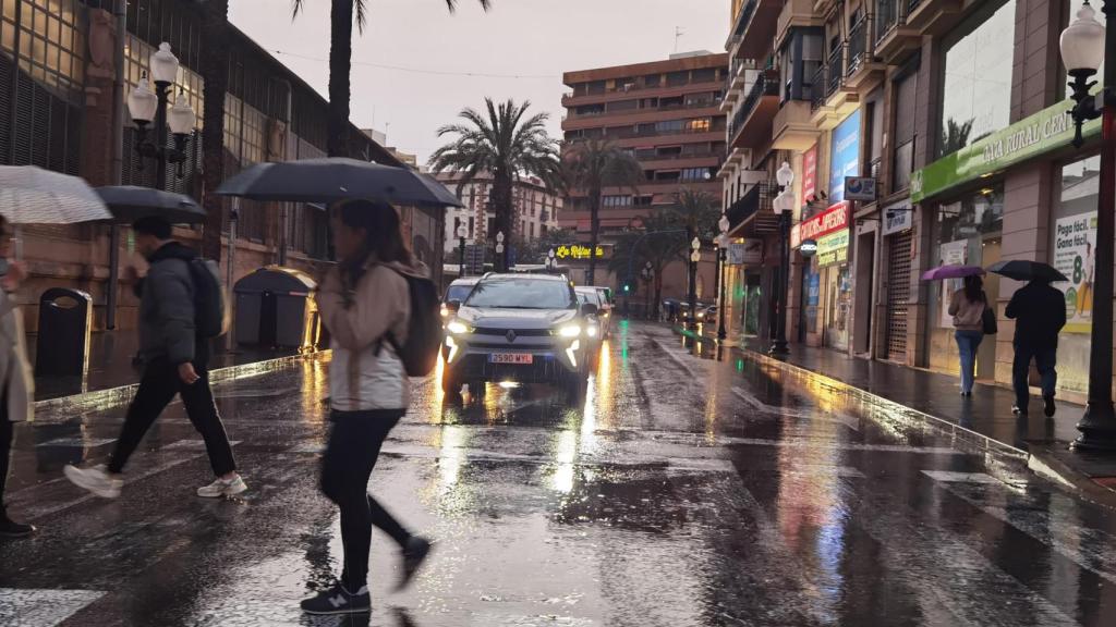
M 202 3 L 202 79 L 205 81 L 202 128 L 202 205 L 205 228 L 202 255 L 221 260 L 224 202 L 217 187 L 224 181 L 224 94 L 229 90 L 229 0 Z

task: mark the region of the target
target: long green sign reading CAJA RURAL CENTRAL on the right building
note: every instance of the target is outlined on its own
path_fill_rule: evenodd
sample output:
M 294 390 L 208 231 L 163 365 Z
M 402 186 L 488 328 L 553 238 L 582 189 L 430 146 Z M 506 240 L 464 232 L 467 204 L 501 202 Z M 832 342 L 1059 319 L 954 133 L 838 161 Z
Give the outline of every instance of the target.
M 1074 139 L 1074 103 L 1066 100 L 1017 122 L 911 175 L 911 201 L 922 202 L 951 187 L 989 176 L 1017 163 L 1064 148 Z M 1100 120 L 1087 122 L 1086 137 L 1100 133 Z

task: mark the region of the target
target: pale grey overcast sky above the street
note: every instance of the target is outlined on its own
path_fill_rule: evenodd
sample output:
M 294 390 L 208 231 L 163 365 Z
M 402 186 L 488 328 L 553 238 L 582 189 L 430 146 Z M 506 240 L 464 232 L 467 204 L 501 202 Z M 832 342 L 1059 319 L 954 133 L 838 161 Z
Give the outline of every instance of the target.
M 386 132 L 389 145 L 422 162 L 442 144 L 436 128 L 485 96 L 530 99 L 550 112 L 557 137 L 562 71 L 665 59 L 675 27 L 679 51 L 723 51 L 729 32 L 729 0 L 492 0 L 488 13 L 460 0 L 454 15 L 444 0 L 368 3 L 368 26 L 353 42 L 353 122 Z M 237 0 L 230 19 L 325 95 L 329 0 L 308 0 L 294 23 L 289 7 Z

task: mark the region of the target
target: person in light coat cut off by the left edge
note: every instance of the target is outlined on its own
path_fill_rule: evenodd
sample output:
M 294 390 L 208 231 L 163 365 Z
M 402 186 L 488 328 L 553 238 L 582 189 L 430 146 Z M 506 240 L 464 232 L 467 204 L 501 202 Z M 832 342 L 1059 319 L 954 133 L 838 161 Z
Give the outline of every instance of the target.
M 22 318 L 12 296 L 27 274 L 18 261 L 8 261 L 9 237 L 8 221 L 0 216 L 0 389 L 3 390 L 0 395 L 0 537 L 21 538 L 35 533 L 35 527 L 8 518 L 3 491 L 16 423 L 31 418 L 35 379 L 27 364 Z

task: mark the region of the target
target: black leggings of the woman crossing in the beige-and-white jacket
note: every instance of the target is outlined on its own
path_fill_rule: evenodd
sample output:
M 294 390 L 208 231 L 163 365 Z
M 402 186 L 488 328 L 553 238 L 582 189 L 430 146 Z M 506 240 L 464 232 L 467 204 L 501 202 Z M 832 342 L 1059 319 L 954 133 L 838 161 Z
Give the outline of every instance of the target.
M 372 528 L 378 527 L 400 547 L 411 539 L 403 525 L 368 494 L 368 479 L 387 434 L 403 418 L 404 409 L 333 412 L 329 444 L 321 459 L 321 491 L 341 511 L 345 570 L 341 583 L 356 592 L 368 581 Z

